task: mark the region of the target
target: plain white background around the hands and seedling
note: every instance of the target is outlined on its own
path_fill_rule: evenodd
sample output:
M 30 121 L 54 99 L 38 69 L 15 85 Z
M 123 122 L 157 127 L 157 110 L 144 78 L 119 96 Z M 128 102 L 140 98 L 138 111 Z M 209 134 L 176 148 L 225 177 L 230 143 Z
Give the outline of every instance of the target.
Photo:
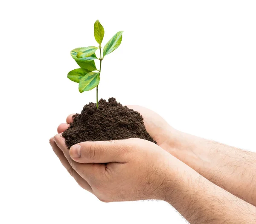
M 185 223 L 163 201 L 105 204 L 82 190 L 49 145 L 80 94 L 67 73 L 73 48 L 105 44 L 99 97 L 160 113 L 173 127 L 256 151 L 256 3 L 253 0 L 0 3 L 0 223 Z

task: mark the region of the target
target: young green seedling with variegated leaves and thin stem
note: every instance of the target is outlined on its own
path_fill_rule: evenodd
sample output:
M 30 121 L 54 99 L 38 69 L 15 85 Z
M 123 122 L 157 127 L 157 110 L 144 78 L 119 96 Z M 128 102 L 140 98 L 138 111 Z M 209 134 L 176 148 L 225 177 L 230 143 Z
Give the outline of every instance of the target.
M 98 104 L 98 89 L 99 81 L 102 69 L 102 60 L 107 54 L 110 54 L 122 42 L 122 32 L 117 32 L 103 48 L 102 57 L 102 40 L 104 37 L 104 28 L 97 20 L 94 23 L 94 37 L 99 47 L 89 46 L 87 48 L 75 48 L 70 52 L 73 59 L 80 66 L 80 68 L 74 69 L 67 74 L 67 77 L 73 81 L 79 83 L 79 92 L 92 90 L 96 87 L 96 107 L 99 108 Z M 100 56 L 97 57 L 95 52 L 99 49 Z M 96 68 L 94 60 L 99 60 L 99 69 Z M 97 71 L 97 72 L 94 72 Z

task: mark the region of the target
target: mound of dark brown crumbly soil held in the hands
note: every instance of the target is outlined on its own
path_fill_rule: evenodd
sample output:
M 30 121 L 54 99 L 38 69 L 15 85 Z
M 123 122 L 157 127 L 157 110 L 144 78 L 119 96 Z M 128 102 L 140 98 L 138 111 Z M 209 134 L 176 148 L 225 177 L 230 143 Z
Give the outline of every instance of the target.
M 96 103 L 85 105 L 80 114 L 73 116 L 73 123 L 62 136 L 68 148 L 86 141 L 140 138 L 154 142 L 140 113 L 122 106 L 115 98 L 109 98 L 108 102 L 100 99 L 98 109 Z

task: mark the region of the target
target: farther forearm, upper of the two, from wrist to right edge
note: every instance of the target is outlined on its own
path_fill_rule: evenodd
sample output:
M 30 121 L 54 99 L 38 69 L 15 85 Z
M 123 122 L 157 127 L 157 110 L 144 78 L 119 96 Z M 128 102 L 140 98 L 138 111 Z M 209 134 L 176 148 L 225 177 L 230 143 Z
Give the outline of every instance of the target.
M 256 153 L 181 132 L 175 138 L 166 145 L 167 151 L 209 181 L 256 205 Z

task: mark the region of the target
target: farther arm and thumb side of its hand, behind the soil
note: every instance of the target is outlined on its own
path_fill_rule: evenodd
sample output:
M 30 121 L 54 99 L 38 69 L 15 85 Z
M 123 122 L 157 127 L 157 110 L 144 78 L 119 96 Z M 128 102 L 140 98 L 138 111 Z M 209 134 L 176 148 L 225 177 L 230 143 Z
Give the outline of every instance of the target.
M 128 107 L 141 113 L 157 145 L 214 184 L 256 206 L 256 153 L 180 132 L 154 111 L 138 105 Z

